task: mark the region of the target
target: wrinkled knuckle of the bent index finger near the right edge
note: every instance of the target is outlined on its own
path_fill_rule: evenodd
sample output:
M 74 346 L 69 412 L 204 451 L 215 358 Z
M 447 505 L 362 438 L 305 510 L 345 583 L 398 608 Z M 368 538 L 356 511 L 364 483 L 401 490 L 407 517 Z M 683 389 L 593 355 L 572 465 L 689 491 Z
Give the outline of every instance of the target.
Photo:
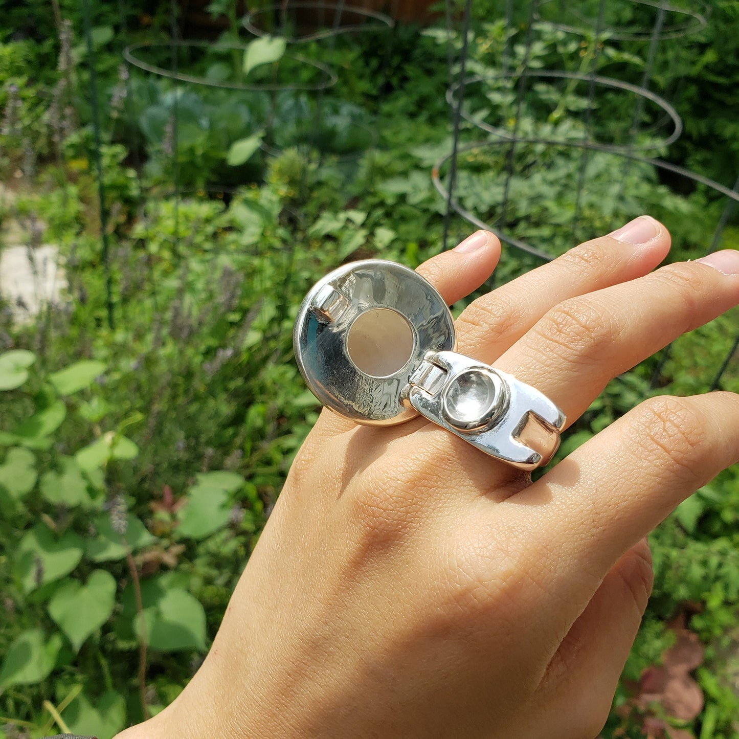
M 704 446 L 706 420 L 682 398 L 661 395 L 638 406 L 636 435 L 644 460 L 669 463 L 698 478 L 695 464 Z

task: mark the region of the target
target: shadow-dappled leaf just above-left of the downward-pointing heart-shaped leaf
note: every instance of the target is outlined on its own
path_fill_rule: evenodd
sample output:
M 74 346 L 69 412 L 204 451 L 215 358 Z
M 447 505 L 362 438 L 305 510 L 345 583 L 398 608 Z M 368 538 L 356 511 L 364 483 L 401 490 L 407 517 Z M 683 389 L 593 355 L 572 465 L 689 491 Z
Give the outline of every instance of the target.
M 72 531 L 56 537 L 47 525 L 37 523 L 16 548 L 13 573 L 21 580 L 23 589 L 30 593 L 38 585 L 72 572 L 82 558 L 83 545 L 84 539 Z

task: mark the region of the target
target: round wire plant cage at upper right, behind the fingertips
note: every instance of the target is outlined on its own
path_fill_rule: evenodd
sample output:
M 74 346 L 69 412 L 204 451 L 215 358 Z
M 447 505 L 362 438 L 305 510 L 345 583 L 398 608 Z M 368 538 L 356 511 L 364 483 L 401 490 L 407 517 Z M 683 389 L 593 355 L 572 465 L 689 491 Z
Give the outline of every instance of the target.
M 618 5 L 619 3 L 609 3 L 607 10 L 613 12 Z M 654 16 L 653 24 L 649 28 L 626 26 L 607 27 L 605 24 L 605 0 L 599 1 L 597 13 L 594 17 L 586 16 L 585 11 L 579 5 L 565 4 L 563 6 L 559 0 L 531 0 L 528 5 L 529 13 L 528 24 L 525 28 L 525 40 L 523 41 L 522 49 L 519 51 L 520 60 L 515 65 L 515 69 L 512 70 L 511 37 L 517 33 L 517 29 L 514 28 L 511 22 L 511 3 L 508 2 L 506 6 L 506 41 L 503 50 L 503 64 L 501 65 L 500 72 L 492 75 L 466 75 L 469 55 L 469 44 L 467 43 L 469 29 L 466 21 L 462 21 L 460 30 L 462 44 L 460 44 L 460 53 L 453 62 L 455 68 L 459 71 L 457 75 L 450 74 L 449 87 L 446 92 L 446 100 L 452 109 L 452 148 L 449 154 L 441 157 L 432 169 L 432 182 L 446 203 L 445 222 L 449 222 L 450 215 L 454 212 L 477 228 L 494 231 L 501 241 L 515 250 L 520 251 L 520 253 L 528 254 L 540 262 L 551 261 L 556 256 L 556 253 L 531 245 L 526 239 L 517 236 L 517 225 L 519 224 L 511 224 L 510 222 L 509 206 L 511 203 L 511 188 L 517 180 L 517 176 L 522 177 L 516 171 L 518 148 L 524 146 L 531 149 L 531 151 L 545 151 L 548 153 L 551 153 L 556 148 L 579 149 L 582 151 L 579 159 L 579 167 L 576 170 L 573 169 L 572 174 L 572 185 L 575 194 L 573 217 L 570 226 L 571 234 L 574 235 L 581 229 L 579 223 L 582 218 L 583 194 L 588 190 L 588 163 L 591 154 L 598 153 L 600 156 L 608 154 L 614 159 L 618 158 L 622 163 L 619 166 L 613 166 L 613 172 L 616 174 L 614 179 L 620 180 L 619 193 L 615 198 L 616 202 L 620 202 L 624 198 L 624 187 L 626 186 L 628 175 L 633 166 L 647 166 L 658 175 L 669 175 L 672 179 L 677 177 L 682 181 L 691 183 L 692 187 L 699 186 L 704 189 L 707 194 L 706 197 L 709 197 L 709 200 L 712 198 L 715 199 L 716 196 L 725 197 L 727 200 L 726 206 L 723 208 L 721 217 L 718 218 L 715 230 L 712 235 L 706 234 L 704 237 L 704 249 L 702 251 L 696 250 L 698 251 L 696 256 L 715 251 L 718 248 L 721 243 L 723 231 L 729 224 L 734 212 L 735 204 L 739 201 L 739 180 L 737 180 L 734 188 L 727 188 L 697 172 L 676 166 L 670 163 L 670 161 L 648 156 L 650 151 L 655 153 L 667 151 L 667 147 L 678 139 L 682 131 L 682 122 L 675 107 L 665 100 L 663 96 L 657 95 L 649 89 L 658 50 L 664 44 L 664 41 L 685 38 L 701 30 L 706 25 L 709 9 L 703 3 L 700 4 L 698 10 L 678 8 L 663 0 L 622 0 L 620 5 L 623 7 L 632 5 L 641 7 L 642 9 L 652 9 Z M 552 20 L 550 19 L 551 11 L 555 6 L 558 15 L 556 19 Z M 593 7 L 593 4 L 590 7 Z M 470 9 L 471 0 L 466 0 L 464 18 L 467 18 Z M 450 0 L 446 0 L 446 13 L 447 18 L 452 17 L 453 10 Z M 568 17 L 575 18 L 576 24 L 574 22 L 571 24 L 563 20 Z M 679 19 L 686 17 L 687 19 L 685 20 Z M 542 69 L 538 64 L 537 67 L 529 67 L 534 36 L 537 31 L 545 28 L 554 28 L 560 32 L 589 38 L 591 43 L 594 44 L 594 52 L 590 57 L 589 69 L 582 69 L 582 65 L 577 72 L 567 69 Z M 599 57 L 604 41 L 631 42 L 632 45 L 638 42 L 648 42 L 644 56 L 644 67 L 641 72 L 641 84 L 607 78 L 599 74 Z M 583 44 L 585 44 L 585 41 Z M 451 44 L 449 48 L 452 48 Z M 588 52 L 583 53 L 587 54 Z M 528 103 L 527 95 L 530 93 L 535 97 L 539 94 L 539 91 L 536 89 L 531 92 L 530 86 L 527 85 L 527 81 L 531 78 L 537 78 L 539 80 L 559 79 L 588 84 L 587 103 L 585 105 L 584 124 L 582 126 L 583 133 L 581 137 L 576 138 L 576 140 L 568 140 L 568 137 L 559 139 L 551 135 L 551 130 L 548 134 L 545 134 L 543 132 L 545 128 L 542 128 L 542 126 L 539 126 L 542 129 L 542 134 L 539 135 L 536 133 L 536 126 L 534 126 L 534 131 L 529 126 L 528 131 L 525 133 L 520 132 L 525 108 Z M 487 107 L 484 103 L 480 103 L 480 100 L 485 97 L 484 95 L 482 98 L 480 96 L 476 98 L 477 107 L 474 109 L 465 104 L 466 98 L 469 98 L 469 95 L 465 94 L 466 89 L 470 86 L 491 84 L 494 81 L 498 83 L 500 81 L 511 81 L 511 84 L 506 89 L 511 89 L 513 83 L 515 83 L 515 100 L 510 106 L 512 111 L 510 115 L 513 118 L 512 122 L 507 120 L 501 124 L 488 123 L 486 117 L 491 112 L 497 113 L 499 118 L 504 118 L 508 114 L 505 108 L 496 111 L 494 106 L 491 106 L 489 103 Z M 628 131 L 625 136 L 626 140 L 624 141 L 618 143 L 604 141 L 602 138 L 599 138 L 596 132 L 594 118 L 598 109 L 596 89 L 599 87 L 628 92 L 636 99 L 636 104 L 633 106 L 631 113 Z M 653 121 L 651 129 L 644 127 L 644 106 L 647 102 L 654 105 L 655 109 L 661 112 L 661 118 L 659 115 L 657 116 L 658 120 Z M 653 134 L 666 120 L 672 123 L 672 132 L 669 134 L 660 138 L 654 135 L 641 135 L 647 133 Z M 462 129 L 460 121 L 469 124 L 466 130 Z M 534 120 L 534 123 L 536 123 L 536 120 Z M 539 121 L 539 123 L 542 122 Z M 461 137 L 469 136 L 469 131 L 474 132 L 475 130 L 488 134 L 488 139 L 482 141 L 460 141 Z M 500 186 L 502 194 L 500 194 L 500 200 L 493 206 L 492 214 L 489 216 L 484 213 L 477 214 L 470 208 L 465 207 L 457 197 L 456 189 L 460 183 L 460 162 L 462 161 L 460 157 L 466 157 L 468 160 L 481 158 L 484 163 L 488 161 L 486 160 L 486 157 L 489 156 L 487 152 L 491 150 L 497 150 L 496 161 L 499 168 L 496 171 L 499 174 L 496 175 L 497 180 L 495 182 Z M 529 163 L 537 161 L 535 155 L 531 154 L 530 160 L 528 161 Z M 528 171 L 533 171 L 533 169 L 534 166 L 532 165 L 532 169 Z M 443 171 L 446 171 L 446 176 L 444 177 L 442 176 Z M 519 219 L 525 219 L 526 214 L 518 214 L 517 217 Z M 446 248 L 446 241 L 447 232 L 445 230 L 443 248 Z M 721 358 L 721 361 L 717 361 L 715 372 L 709 382 L 706 383 L 709 389 L 716 389 L 721 386 L 722 379 L 732 364 L 732 358 L 735 357 L 738 348 L 739 333 L 735 333 L 732 335 L 728 352 Z M 666 364 L 672 358 L 673 352 L 673 347 L 667 347 L 662 353 L 661 358 L 653 370 L 650 382 L 652 389 L 664 384 L 663 372 Z

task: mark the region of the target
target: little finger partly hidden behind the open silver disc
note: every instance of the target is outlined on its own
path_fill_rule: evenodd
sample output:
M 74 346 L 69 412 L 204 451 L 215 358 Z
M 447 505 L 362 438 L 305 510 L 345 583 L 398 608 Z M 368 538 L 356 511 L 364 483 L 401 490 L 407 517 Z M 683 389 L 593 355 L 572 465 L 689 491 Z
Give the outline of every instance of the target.
M 500 241 L 490 231 L 475 231 L 449 251 L 443 251 L 418 266 L 423 275 L 441 294 L 447 305 L 452 305 L 491 276 L 500 258 Z M 316 433 L 335 435 L 357 424 L 353 420 L 324 409 Z

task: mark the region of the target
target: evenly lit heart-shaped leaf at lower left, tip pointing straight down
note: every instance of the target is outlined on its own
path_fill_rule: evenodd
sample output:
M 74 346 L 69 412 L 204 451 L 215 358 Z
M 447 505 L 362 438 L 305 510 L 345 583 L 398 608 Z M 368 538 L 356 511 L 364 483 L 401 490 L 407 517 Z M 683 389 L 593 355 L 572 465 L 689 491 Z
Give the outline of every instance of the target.
M 86 585 L 70 580 L 54 593 L 49 614 L 72 642 L 75 652 L 113 613 L 115 578 L 105 570 L 95 570 Z

